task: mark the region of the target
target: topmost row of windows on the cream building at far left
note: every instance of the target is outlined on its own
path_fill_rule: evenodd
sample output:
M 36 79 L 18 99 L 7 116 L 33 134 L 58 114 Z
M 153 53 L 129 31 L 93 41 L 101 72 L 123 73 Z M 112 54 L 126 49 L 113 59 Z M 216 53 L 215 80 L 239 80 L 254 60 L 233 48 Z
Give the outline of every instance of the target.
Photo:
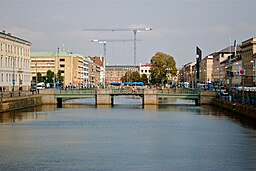
M 29 56 L 30 50 L 28 48 L 22 48 L 20 46 L 9 45 L 7 43 L 0 43 L 0 51 L 14 53 L 17 55 Z

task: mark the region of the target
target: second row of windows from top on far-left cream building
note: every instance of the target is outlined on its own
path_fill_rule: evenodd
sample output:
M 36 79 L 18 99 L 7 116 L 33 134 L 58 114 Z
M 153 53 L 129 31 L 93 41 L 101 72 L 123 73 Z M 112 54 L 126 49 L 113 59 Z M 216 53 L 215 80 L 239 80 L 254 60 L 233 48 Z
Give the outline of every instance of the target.
M 3 57 L 3 55 L 0 58 L 0 67 L 9 67 L 9 68 L 24 68 L 24 69 L 29 69 L 29 60 L 24 59 L 21 57 L 10 57 L 6 56 Z

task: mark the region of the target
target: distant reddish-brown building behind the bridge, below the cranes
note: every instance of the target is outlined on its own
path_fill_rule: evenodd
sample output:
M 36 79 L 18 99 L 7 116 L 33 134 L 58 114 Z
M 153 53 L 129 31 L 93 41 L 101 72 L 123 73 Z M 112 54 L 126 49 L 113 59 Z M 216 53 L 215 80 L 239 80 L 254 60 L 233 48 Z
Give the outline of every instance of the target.
M 121 78 L 125 76 L 127 71 L 137 71 L 137 66 L 128 66 L 128 65 L 109 65 L 106 66 L 106 84 L 109 85 L 111 82 L 121 83 Z M 128 78 L 129 80 L 129 78 Z

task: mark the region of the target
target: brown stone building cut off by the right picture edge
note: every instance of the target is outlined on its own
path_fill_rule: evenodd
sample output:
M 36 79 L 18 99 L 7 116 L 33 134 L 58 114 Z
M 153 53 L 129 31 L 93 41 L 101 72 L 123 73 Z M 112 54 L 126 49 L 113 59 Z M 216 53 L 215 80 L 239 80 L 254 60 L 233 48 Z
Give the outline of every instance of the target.
M 255 81 L 253 82 L 253 80 L 255 80 L 255 78 L 253 78 L 255 76 L 253 68 L 255 68 L 256 37 L 243 41 L 240 48 L 243 68 L 246 71 L 244 85 L 255 85 Z

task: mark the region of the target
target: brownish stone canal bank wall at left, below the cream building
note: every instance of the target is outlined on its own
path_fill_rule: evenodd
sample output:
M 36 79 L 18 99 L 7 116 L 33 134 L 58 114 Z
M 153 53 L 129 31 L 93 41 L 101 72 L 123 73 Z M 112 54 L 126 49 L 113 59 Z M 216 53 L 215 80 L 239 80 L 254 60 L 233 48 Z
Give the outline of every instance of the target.
M 0 112 L 24 109 L 39 105 L 42 105 L 41 95 L 2 98 L 0 101 Z

